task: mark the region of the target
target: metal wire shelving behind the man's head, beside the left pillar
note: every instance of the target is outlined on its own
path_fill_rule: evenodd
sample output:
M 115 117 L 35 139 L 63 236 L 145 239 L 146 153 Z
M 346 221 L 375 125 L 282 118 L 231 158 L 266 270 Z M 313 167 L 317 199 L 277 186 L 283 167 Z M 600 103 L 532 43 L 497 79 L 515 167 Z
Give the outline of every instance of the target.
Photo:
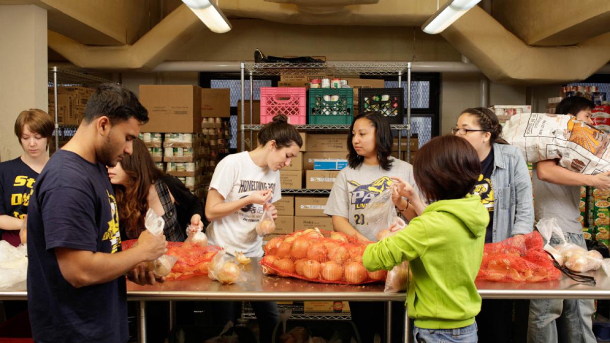
M 49 88 L 53 88 L 53 99 L 55 104 L 55 149 L 59 150 L 59 136 L 71 137 L 76 132 L 76 125 L 60 125 L 57 123 L 57 87 L 58 86 L 83 86 L 95 87 L 99 84 L 112 83 L 112 81 L 98 76 L 79 73 L 78 71 L 69 70 L 60 67 L 49 67 Z

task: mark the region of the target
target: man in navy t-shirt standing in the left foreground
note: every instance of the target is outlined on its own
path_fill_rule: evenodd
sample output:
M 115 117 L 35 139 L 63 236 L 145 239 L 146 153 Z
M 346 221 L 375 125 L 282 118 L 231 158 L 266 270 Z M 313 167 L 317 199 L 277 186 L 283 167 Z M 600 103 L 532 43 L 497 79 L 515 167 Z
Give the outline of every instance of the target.
M 131 154 L 146 121 L 134 93 L 118 84 L 99 86 L 73 139 L 37 178 L 27 217 L 27 300 L 37 342 L 127 341 L 124 275 L 154 284 L 151 272 L 134 267 L 163 255 L 167 242 L 143 231 L 137 247 L 121 251 L 105 166 Z

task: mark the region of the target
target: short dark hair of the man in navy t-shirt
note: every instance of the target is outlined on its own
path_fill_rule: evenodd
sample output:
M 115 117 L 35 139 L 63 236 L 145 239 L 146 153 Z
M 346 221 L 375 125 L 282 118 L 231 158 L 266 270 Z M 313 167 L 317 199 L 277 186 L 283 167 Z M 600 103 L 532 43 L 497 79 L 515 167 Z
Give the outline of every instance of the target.
M 129 120 L 131 117 L 142 124 L 148 121 L 148 110 L 140 104 L 134 92 L 120 84 L 99 85 L 87 101 L 83 120 L 91 123 L 104 115 L 110 119 L 110 123 Z

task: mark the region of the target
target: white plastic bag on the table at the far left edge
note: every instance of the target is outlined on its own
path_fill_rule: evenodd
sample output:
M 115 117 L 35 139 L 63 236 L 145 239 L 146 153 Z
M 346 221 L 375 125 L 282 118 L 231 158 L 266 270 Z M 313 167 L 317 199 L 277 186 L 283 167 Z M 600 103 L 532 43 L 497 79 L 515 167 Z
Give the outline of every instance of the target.
M 0 290 L 25 291 L 27 278 L 27 245 L 13 247 L 0 240 Z

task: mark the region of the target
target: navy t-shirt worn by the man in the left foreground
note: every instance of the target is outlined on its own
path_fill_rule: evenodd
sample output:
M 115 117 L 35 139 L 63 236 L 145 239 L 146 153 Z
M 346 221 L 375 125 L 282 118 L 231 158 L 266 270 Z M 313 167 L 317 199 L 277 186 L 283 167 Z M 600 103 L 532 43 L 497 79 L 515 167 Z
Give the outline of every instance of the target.
M 121 251 L 117 203 L 106 167 L 59 150 L 34 186 L 27 215 L 27 304 L 37 342 L 126 342 L 126 280 L 75 288 L 55 248 Z

